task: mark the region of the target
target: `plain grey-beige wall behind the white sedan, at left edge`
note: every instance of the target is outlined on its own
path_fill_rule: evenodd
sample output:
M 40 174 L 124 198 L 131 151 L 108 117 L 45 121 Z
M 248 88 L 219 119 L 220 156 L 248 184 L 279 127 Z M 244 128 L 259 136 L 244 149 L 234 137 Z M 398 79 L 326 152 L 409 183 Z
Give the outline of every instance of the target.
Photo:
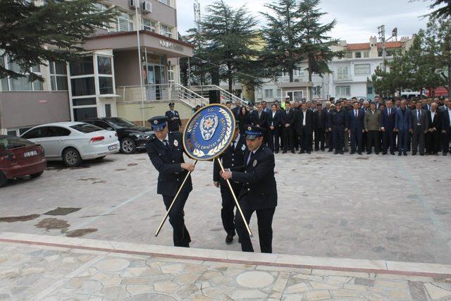
M 70 121 L 68 92 L 1 92 L 1 128 Z

